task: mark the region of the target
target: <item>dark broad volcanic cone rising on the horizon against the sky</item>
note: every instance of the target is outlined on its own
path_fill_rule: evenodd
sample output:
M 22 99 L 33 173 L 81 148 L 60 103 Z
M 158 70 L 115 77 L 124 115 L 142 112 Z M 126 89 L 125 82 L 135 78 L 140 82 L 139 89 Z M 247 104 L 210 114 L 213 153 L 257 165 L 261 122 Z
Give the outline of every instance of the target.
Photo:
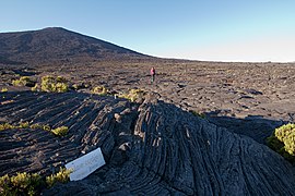
M 0 33 L 0 63 L 76 62 L 149 56 L 61 27 Z

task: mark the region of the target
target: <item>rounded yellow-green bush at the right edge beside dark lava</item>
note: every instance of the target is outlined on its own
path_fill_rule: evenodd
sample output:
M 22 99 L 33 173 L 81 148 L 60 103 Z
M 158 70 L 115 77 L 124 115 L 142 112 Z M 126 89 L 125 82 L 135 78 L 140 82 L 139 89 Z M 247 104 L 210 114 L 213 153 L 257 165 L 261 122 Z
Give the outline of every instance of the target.
M 272 135 L 267 138 L 267 144 L 295 164 L 295 124 L 290 123 L 275 128 Z

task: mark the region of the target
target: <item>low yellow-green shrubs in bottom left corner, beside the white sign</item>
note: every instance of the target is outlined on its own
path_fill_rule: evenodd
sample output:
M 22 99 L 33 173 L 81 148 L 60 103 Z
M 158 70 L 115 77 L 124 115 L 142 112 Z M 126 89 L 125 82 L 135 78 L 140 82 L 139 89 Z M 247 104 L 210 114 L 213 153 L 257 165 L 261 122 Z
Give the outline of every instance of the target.
M 70 180 L 70 170 L 60 168 L 60 171 L 49 176 L 40 176 L 38 173 L 16 173 L 16 175 L 3 175 L 0 177 L 0 195 L 39 195 L 45 187 L 51 187 L 56 183 L 67 183 Z

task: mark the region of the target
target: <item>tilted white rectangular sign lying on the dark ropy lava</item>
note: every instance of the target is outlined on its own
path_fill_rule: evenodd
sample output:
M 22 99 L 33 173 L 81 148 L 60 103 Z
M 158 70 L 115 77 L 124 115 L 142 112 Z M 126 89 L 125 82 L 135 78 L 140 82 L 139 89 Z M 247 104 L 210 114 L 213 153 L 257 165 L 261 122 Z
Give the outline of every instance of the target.
M 105 159 L 102 154 L 101 148 L 97 148 L 96 150 L 93 150 L 83 157 L 80 157 L 69 163 L 66 164 L 66 168 L 68 170 L 72 170 L 72 173 L 70 174 L 71 181 L 79 181 L 104 166 Z

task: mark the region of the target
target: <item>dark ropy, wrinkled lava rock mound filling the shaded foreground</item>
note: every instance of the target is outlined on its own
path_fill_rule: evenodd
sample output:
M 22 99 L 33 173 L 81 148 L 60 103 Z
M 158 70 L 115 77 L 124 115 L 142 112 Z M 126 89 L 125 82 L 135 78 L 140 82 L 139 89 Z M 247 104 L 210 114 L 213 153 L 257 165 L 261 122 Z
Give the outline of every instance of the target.
M 66 125 L 69 133 L 0 132 L 0 175 L 50 173 L 102 148 L 106 166 L 82 181 L 44 189 L 44 195 L 294 194 L 294 168 L 281 156 L 153 93 L 142 103 L 78 93 L 15 91 L 1 97 L 2 122 Z

